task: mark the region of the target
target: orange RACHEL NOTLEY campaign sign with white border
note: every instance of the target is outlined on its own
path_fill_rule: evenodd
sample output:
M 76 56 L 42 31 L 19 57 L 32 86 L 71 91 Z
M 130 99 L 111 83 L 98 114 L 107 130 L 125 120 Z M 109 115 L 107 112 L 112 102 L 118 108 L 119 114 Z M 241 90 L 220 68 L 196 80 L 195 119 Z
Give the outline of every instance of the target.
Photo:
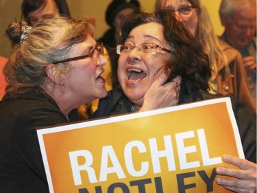
M 244 158 L 230 98 L 38 129 L 50 192 L 230 192 L 222 155 Z

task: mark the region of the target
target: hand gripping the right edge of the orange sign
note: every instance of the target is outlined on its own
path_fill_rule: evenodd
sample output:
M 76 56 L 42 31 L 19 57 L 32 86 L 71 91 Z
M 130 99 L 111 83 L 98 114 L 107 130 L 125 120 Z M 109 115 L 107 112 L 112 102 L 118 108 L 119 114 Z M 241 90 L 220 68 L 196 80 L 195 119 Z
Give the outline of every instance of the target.
M 219 185 L 234 192 L 256 192 L 256 163 L 228 155 L 223 157 L 223 161 L 238 166 L 238 169 L 216 168 L 217 174 L 235 178 L 218 177 L 217 183 Z

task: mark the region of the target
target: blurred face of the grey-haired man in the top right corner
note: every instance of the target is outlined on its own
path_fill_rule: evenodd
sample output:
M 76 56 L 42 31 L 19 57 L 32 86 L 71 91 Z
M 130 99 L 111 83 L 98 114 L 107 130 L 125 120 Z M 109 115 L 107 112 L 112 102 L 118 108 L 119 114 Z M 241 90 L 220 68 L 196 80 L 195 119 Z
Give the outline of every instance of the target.
M 236 49 L 245 47 L 256 35 L 256 8 L 242 8 L 234 12 L 231 21 L 225 21 L 225 36 Z

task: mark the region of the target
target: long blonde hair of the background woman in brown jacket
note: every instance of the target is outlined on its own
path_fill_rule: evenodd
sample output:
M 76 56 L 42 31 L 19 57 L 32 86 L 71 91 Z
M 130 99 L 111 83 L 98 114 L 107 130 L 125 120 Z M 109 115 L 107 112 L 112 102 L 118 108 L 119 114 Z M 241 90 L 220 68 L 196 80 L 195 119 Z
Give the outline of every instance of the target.
M 164 4 L 167 1 L 172 0 L 156 0 L 156 12 L 159 10 L 163 10 Z M 186 1 L 191 3 L 194 6 L 197 6 L 197 15 L 199 18 L 199 23 L 197 26 L 196 40 L 204 46 L 206 54 L 209 56 L 210 67 L 212 69 L 212 78 L 210 81 L 215 80 L 218 73 L 218 64 L 225 64 L 226 73 L 230 73 L 230 69 L 228 65 L 228 59 L 223 54 L 223 50 L 221 49 L 221 44 L 219 41 L 219 37 L 215 35 L 215 31 L 212 27 L 212 23 L 210 21 L 210 16 L 208 12 L 201 2 L 201 0 L 175 0 L 175 1 Z

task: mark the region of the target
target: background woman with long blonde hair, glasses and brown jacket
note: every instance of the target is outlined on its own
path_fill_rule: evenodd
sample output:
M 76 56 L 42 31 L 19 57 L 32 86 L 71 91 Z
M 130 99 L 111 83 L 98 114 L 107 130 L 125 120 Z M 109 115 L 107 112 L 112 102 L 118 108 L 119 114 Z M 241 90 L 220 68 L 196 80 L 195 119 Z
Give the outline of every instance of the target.
M 238 100 L 256 112 L 241 55 L 215 35 L 204 3 L 201 0 L 156 0 L 156 11 L 159 10 L 175 12 L 177 19 L 204 45 L 212 69 L 210 93 L 234 93 Z

